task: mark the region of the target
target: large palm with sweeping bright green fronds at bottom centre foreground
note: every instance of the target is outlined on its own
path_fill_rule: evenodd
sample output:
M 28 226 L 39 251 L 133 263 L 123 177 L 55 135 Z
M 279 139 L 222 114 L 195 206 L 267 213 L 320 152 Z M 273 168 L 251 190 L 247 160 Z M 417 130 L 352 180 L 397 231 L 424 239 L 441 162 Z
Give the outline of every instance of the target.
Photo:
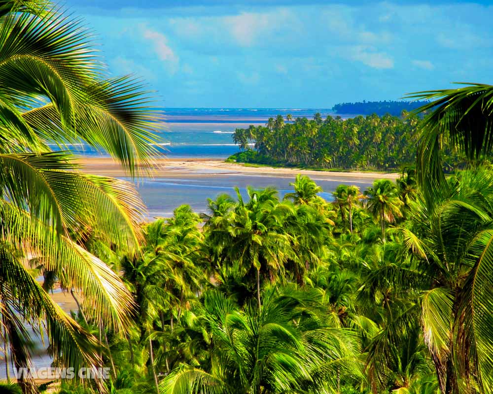
M 161 381 L 163 394 L 317 392 L 337 387 L 338 370 L 361 375 L 346 362 L 355 356 L 356 337 L 330 324 L 315 294 L 269 290 L 260 311 L 238 309 L 210 291 L 201 315 L 211 332 L 210 357 L 204 366 L 178 366 Z

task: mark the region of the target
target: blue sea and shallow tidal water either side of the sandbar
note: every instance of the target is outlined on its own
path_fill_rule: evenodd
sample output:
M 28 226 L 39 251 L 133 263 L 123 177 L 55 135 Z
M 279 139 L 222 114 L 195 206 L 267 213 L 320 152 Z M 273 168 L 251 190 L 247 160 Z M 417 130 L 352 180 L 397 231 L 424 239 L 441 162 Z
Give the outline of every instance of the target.
M 279 114 L 284 118 L 291 114 L 295 119 L 313 118 L 317 112 L 323 118 L 327 115 L 336 116 L 330 109 L 324 108 L 164 108 L 165 121 L 159 132 L 160 141 L 156 148 L 170 159 L 225 160 L 239 150 L 231 137 L 235 129 L 247 128 L 249 125 L 265 125 L 270 117 L 275 118 Z M 82 144 L 71 146 L 71 151 L 82 156 L 107 156 Z M 215 198 L 221 193 L 235 196 L 235 186 L 240 188 L 244 196 L 247 185 L 255 188 L 273 186 L 279 190 L 282 198 L 284 194 L 292 191 L 289 183 L 293 181 L 294 176 L 266 176 L 259 168 L 255 174 L 209 172 L 205 175 L 190 173 L 172 179 L 143 179 L 136 183 L 136 186 L 147 206 L 147 217 L 152 219 L 171 216 L 180 204 L 189 204 L 196 212 L 205 212 L 208 198 Z M 330 192 L 339 181 L 317 182 L 324 190 L 321 196 L 331 199 Z M 361 188 L 370 185 L 366 179 L 352 183 Z

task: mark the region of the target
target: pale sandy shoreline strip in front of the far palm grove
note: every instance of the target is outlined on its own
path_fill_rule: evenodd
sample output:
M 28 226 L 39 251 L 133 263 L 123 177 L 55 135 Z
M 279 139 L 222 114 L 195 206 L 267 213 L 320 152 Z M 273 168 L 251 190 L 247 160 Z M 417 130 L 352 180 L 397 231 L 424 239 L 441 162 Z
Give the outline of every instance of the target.
M 81 170 L 94 175 L 126 177 L 128 174 L 122 166 L 112 158 L 79 157 Z M 318 179 L 337 180 L 341 178 L 359 179 L 396 179 L 398 173 L 365 172 L 365 171 L 323 171 L 301 168 L 282 168 L 271 166 L 249 166 L 242 163 L 226 163 L 219 159 L 208 158 L 173 158 L 155 159 L 148 168 L 148 174 L 141 177 L 160 178 L 182 175 L 214 176 L 214 175 L 257 175 L 292 178 L 297 174 L 308 175 Z

